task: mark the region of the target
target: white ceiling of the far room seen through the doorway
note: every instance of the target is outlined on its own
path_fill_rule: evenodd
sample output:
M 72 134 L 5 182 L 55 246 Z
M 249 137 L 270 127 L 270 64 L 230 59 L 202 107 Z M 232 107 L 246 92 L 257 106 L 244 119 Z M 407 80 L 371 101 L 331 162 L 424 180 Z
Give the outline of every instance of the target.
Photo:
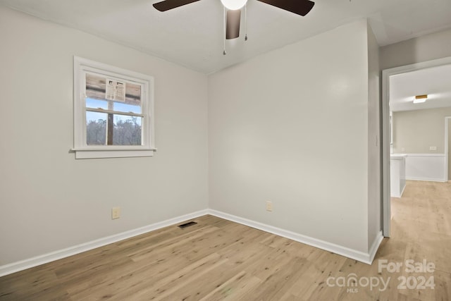
M 415 95 L 428 100 L 414 104 Z M 390 110 L 411 111 L 451 106 L 451 64 L 390 76 Z

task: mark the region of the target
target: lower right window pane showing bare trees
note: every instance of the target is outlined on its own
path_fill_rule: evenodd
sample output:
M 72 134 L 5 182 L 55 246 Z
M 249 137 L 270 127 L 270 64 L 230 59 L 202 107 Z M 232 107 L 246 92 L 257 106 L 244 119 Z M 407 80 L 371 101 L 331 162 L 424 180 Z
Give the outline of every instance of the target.
M 113 145 L 142 145 L 142 117 L 114 114 Z

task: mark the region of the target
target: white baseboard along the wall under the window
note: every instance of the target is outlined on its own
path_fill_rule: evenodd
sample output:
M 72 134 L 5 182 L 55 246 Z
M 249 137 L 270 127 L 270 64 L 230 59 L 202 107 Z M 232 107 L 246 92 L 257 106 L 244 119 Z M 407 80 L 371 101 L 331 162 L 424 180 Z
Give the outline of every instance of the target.
M 55 252 L 50 252 L 47 254 L 42 254 L 37 257 L 32 257 L 30 259 L 25 259 L 20 262 L 13 262 L 11 264 L 6 264 L 0 266 L 0 277 L 8 274 L 13 274 L 16 271 L 23 271 L 25 269 L 32 268 L 33 266 L 39 266 L 41 264 L 47 264 L 48 262 L 53 262 L 58 259 L 69 257 L 81 252 L 89 251 L 97 247 L 102 247 L 104 245 L 109 245 L 113 242 L 118 242 L 120 240 L 125 240 L 127 238 L 132 238 L 137 235 L 148 233 L 150 231 L 157 230 L 159 228 L 164 228 L 167 226 L 174 225 L 175 223 L 180 223 L 181 221 L 187 221 L 188 219 L 194 219 L 199 216 L 208 214 L 208 210 L 204 209 L 201 211 L 196 211 L 191 214 L 185 214 L 183 216 L 177 216 L 173 219 L 167 219 L 166 221 L 160 221 L 158 223 L 152 223 L 152 225 L 144 226 L 141 228 L 136 228 L 130 231 L 125 231 L 123 233 L 118 233 L 115 235 L 107 236 L 105 238 L 100 238 L 98 240 L 92 240 L 90 242 L 85 242 L 80 245 L 74 245 L 73 247 L 68 247 L 63 250 L 58 250 Z

